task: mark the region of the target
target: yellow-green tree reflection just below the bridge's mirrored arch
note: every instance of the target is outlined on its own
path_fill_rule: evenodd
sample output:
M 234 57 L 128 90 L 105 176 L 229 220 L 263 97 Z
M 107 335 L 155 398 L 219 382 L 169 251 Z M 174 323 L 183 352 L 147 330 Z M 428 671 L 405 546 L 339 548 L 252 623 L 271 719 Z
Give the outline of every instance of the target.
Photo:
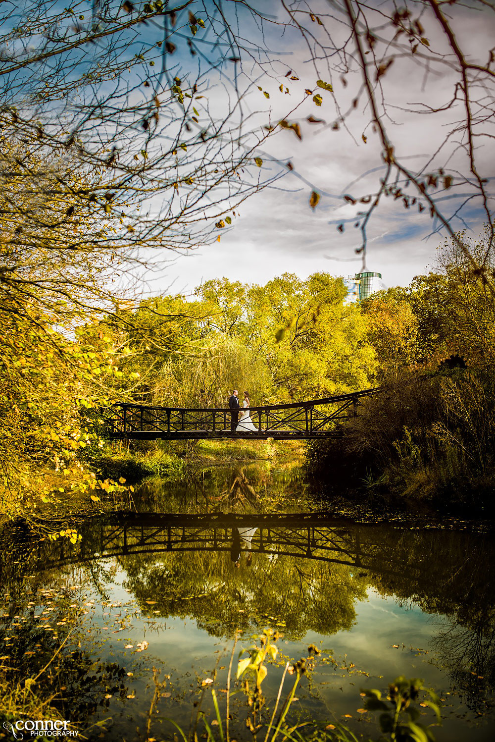
M 125 586 L 142 605 L 151 597 L 162 615 L 193 617 L 217 636 L 266 624 L 267 617 L 285 620 L 290 637 L 334 634 L 353 626 L 354 601 L 366 594 L 365 582 L 348 566 L 298 557 L 254 554 L 239 568 L 225 551 L 132 554 L 119 562 Z

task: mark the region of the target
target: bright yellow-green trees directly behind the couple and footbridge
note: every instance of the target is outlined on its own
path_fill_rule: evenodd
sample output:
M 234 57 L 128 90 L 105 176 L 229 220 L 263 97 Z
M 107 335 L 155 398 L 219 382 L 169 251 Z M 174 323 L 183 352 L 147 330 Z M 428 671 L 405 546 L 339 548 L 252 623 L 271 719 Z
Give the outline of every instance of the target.
M 285 274 L 249 286 L 223 278 L 200 286 L 195 296 L 144 301 L 122 324 L 122 343 L 132 351 L 124 367 L 139 373 L 145 401 L 226 407 L 237 387 L 256 406 L 373 381 L 365 318 L 358 307 L 344 306 L 340 279 Z M 139 332 L 130 329 L 138 326 Z

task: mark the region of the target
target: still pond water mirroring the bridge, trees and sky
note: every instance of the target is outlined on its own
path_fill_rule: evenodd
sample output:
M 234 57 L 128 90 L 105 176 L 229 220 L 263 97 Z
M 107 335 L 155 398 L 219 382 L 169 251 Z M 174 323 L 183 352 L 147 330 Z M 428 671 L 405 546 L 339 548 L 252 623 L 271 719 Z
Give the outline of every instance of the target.
M 173 739 L 168 719 L 186 732 L 198 709 L 215 719 L 211 687 L 224 718 L 236 630 L 234 675 L 239 649 L 271 627 L 282 636 L 262 685 L 270 711 L 287 660 L 307 657 L 310 643 L 322 650 L 297 689 L 293 723 L 345 722 L 377 739 L 360 689 L 385 691 L 403 674 L 442 698 L 437 740 L 494 738 L 486 526 L 330 507 L 297 470 L 264 464 L 146 482 L 133 502 L 66 502 L 59 518 L 80 544 L 40 540 L 23 522 L 3 528 L 0 657 L 19 669 L 10 677 L 47 665 L 37 682 L 87 737 Z M 242 684 L 231 690 L 230 734 L 250 739 Z

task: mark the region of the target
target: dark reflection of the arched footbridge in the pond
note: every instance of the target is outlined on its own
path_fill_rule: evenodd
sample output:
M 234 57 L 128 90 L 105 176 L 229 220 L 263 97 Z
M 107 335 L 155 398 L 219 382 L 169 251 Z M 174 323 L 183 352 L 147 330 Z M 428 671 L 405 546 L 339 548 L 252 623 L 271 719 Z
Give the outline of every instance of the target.
M 348 520 L 336 519 L 328 513 L 114 513 L 100 524 L 99 554 L 125 557 L 224 551 L 230 552 L 233 562 L 239 562 L 243 553 L 247 559 L 253 554 L 265 554 L 371 570 L 376 549 L 380 547 L 379 534 L 373 539 L 368 533 L 363 545 L 359 529 L 350 525 Z M 94 554 L 72 557 L 68 552 L 59 559 L 59 564 L 84 563 L 93 558 Z M 391 574 L 387 568 L 382 571 Z

